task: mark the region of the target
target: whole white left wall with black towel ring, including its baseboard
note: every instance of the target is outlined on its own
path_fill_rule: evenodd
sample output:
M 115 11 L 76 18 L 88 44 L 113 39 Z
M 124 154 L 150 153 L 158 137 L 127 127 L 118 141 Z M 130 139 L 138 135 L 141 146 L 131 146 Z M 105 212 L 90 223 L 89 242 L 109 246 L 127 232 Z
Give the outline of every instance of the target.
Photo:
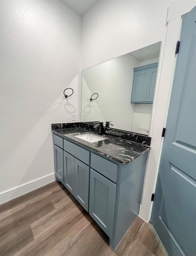
M 51 123 L 79 109 L 81 18 L 58 0 L 4 0 L 0 17 L 2 203 L 54 180 Z

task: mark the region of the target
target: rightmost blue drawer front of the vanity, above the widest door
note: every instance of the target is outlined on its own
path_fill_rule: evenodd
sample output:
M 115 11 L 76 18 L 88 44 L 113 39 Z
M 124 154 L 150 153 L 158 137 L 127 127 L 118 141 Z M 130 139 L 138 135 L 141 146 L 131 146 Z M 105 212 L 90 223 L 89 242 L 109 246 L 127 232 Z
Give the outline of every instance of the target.
M 118 166 L 115 163 L 112 163 L 106 160 L 103 157 L 91 153 L 91 167 L 97 172 L 100 172 L 102 175 L 108 179 L 116 182 L 118 175 Z

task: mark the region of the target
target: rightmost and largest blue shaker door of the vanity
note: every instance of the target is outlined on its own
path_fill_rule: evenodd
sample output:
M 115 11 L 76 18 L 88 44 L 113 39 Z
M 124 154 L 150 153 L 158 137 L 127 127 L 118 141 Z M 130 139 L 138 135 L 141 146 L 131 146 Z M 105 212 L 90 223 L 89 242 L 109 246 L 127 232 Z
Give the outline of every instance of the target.
M 91 169 L 89 213 L 111 238 L 114 225 L 116 184 Z

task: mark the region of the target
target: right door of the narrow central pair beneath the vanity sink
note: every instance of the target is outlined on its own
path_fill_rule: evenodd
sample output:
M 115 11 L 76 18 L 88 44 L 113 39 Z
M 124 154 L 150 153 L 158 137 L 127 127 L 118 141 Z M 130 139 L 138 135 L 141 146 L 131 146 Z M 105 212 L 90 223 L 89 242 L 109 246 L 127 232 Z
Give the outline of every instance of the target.
M 75 197 L 88 212 L 90 167 L 75 158 Z

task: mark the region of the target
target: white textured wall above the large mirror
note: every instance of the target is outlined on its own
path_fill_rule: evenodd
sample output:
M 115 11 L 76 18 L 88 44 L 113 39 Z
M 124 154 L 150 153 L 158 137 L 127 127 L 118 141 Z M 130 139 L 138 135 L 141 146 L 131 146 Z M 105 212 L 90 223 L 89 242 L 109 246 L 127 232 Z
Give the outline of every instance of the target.
M 99 0 L 82 17 L 82 69 L 162 41 L 169 0 Z

